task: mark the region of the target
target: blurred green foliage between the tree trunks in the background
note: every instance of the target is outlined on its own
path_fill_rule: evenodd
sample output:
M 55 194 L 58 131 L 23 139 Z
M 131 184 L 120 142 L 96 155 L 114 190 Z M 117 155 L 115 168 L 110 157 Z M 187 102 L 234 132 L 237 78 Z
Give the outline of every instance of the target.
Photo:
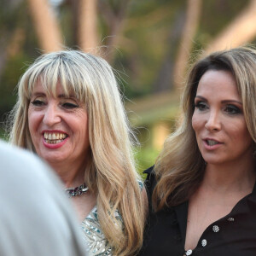
M 210 44 L 212 38 L 239 15 L 248 2 L 202 1 L 200 24 L 194 38 L 194 55 Z M 109 1 L 109 4 L 113 9 L 118 9 L 122 1 Z M 172 90 L 170 76 L 180 44 L 177 27 L 183 22 L 186 6 L 187 1 L 184 0 L 131 0 L 119 45 L 108 49 L 115 52 L 112 65 L 119 72 L 120 90 L 126 99 L 136 102 L 144 96 L 157 94 L 162 84 L 166 84 L 166 87 L 161 90 Z M 98 30 L 104 45 L 109 34 L 108 26 L 102 19 L 102 12 L 104 10 L 99 9 Z M 65 44 L 67 47 L 77 48 L 73 13 L 68 1 L 62 1 L 61 5 L 55 8 L 55 13 L 60 20 Z M 15 55 L 6 57 L 6 50 L 17 28 L 24 33 L 24 38 L 20 41 Z M 42 53 L 25 0 L 1 0 L 0 34 L 0 137 L 3 138 L 3 122 L 6 113 L 15 104 L 15 86 L 20 75 Z M 170 72 L 163 73 L 164 67 Z M 155 121 L 159 119 L 156 118 Z M 173 119 L 170 119 L 170 124 L 173 125 Z M 143 124 L 149 130 L 152 125 Z M 154 164 L 159 149 L 153 148 L 150 132 L 141 129 L 138 137 L 142 146 L 137 148 L 136 157 L 138 168 L 142 171 Z

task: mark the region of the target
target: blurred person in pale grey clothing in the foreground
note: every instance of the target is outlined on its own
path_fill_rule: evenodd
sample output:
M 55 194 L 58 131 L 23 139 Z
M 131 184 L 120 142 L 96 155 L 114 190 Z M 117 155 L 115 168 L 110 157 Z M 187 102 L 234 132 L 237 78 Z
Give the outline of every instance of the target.
M 34 155 L 1 141 L 0 162 L 0 255 L 86 255 L 54 173 Z

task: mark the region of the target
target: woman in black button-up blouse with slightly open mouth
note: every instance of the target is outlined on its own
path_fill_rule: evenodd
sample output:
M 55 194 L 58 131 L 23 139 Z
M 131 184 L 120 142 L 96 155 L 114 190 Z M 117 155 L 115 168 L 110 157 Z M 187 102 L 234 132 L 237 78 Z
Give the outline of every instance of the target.
M 146 171 L 139 255 L 256 255 L 256 50 L 196 61 L 182 103 L 177 131 Z

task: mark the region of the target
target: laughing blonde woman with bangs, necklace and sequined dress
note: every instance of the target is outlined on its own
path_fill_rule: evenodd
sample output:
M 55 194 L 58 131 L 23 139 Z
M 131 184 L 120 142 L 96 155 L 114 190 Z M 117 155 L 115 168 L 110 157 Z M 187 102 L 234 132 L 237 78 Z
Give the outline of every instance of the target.
M 90 255 L 133 255 L 147 196 L 113 69 L 78 50 L 40 56 L 18 84 L 10 143 L 36 152 L 65 183 Z

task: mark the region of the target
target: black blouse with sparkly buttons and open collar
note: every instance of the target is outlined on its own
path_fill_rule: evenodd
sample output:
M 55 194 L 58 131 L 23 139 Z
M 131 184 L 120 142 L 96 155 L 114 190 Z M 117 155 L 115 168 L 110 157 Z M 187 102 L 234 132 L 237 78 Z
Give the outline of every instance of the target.
M 155 186 L 153 167 L 148 173 L 149 207 Z M 193 250 L 184 250 L 189 202 L 160 212 L 150 209 L 140 256 L 256 256 L 256 185 L 224 218 L 212 223 Z

